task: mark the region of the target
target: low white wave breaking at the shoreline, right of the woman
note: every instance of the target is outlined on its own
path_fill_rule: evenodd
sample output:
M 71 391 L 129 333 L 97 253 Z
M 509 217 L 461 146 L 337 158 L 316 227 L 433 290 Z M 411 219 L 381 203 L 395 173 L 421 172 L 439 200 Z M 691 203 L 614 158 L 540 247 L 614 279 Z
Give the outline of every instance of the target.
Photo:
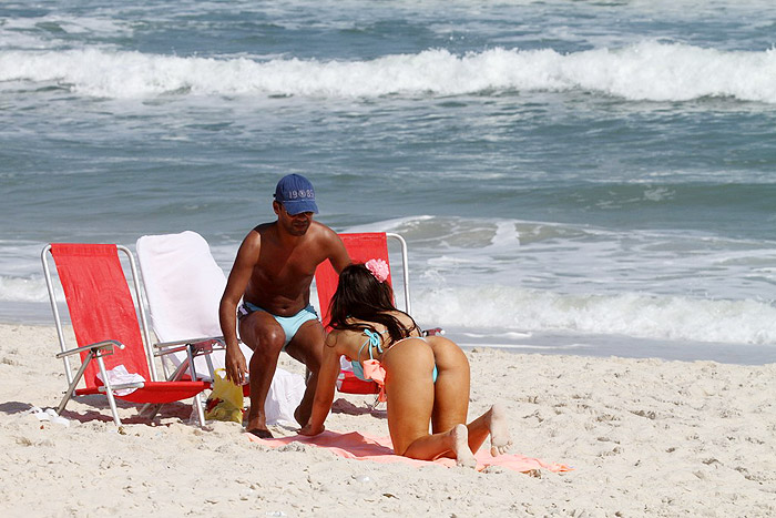
M 563 295 L 482 286 L 416 291 L 413 301 L 412 309 L 418 322 L 442 327 L 776 344 L 776 307 L 752 299 L 713 301 L 640 294 Z

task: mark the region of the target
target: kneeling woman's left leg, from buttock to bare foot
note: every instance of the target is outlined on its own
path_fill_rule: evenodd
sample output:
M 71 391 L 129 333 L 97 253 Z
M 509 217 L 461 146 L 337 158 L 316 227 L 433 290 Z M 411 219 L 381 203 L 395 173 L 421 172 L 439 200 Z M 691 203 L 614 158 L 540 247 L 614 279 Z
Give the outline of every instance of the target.
M 382 356 L 382 365 L 394 450 L 422 460 L 452 451 L 459 465 L 474 467 L 477 463 L 468 446 L 466 426 L 451 427 L 441 434 L 428 433 L 435 407 L 431 347 L 417 338 L 399 342 Z

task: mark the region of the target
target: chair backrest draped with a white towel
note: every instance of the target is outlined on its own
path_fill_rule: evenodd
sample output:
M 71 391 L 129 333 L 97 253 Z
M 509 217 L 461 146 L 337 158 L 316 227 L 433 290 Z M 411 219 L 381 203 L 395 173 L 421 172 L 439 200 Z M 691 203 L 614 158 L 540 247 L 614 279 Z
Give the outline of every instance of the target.
M 226 276 L 196 232 L 144 235 L 137 262 L 151 324 L 161 342 L 218 336 L 218 304 Z

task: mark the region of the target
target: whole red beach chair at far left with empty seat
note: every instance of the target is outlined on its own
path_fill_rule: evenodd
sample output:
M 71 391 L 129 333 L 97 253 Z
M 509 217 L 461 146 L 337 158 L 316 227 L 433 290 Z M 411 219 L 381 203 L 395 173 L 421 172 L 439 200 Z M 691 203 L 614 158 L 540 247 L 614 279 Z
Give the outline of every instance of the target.
M 137 307 L 133 303 L 119 251 L 129 258 Z M 64 291 L 78 343 L 78 347 L 74 348 L 69 348 L 65 344 L 49 268 L 49 255 L 53 257 Z M 61 414 L 74 396 L 104 394 L 114 423 L 121 425 L 116 397 L 141 404 L 164 404 L 193 398 L 200 424 L 204 426 L 205 416 L 200 394 L 210 388 L 210 384 L 202 380 L 159 382 L 156 378 L 154 355 L 147 345 L 149 329 L 137 271 L 129 248 L 114 244 L 52 243 L 43 248 L 41 261 L 59 334 L 61 352 L 57 357 L 64 362 L 69 383 L 57 414 Z M 142 324 L 142 336 L 137 315 Z M 81 356 L 81 365 L 73 374 L 70 358 L 75 354 Z M 121 366 L 129 376 L 116 376 L 123 370 Z M 111 382 L 112 378 L 114 383 Z M 126 380 L 127 378 L 130 380 Z M 81 379 L 85 386 L 76 388 Z

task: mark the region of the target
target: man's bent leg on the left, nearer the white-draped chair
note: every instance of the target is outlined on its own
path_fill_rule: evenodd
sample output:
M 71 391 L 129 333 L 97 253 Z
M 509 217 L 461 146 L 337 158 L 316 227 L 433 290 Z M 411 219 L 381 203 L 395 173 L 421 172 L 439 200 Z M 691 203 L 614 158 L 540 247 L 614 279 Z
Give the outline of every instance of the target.
M 272 434 L 267 429 L 264 404 L 286 335 L 274 316 L 258 311 L 239 322 L 239 336 L 253 349 L 248 362 L 251 409 L 245 428 L 262 438 L 268 438 Z

